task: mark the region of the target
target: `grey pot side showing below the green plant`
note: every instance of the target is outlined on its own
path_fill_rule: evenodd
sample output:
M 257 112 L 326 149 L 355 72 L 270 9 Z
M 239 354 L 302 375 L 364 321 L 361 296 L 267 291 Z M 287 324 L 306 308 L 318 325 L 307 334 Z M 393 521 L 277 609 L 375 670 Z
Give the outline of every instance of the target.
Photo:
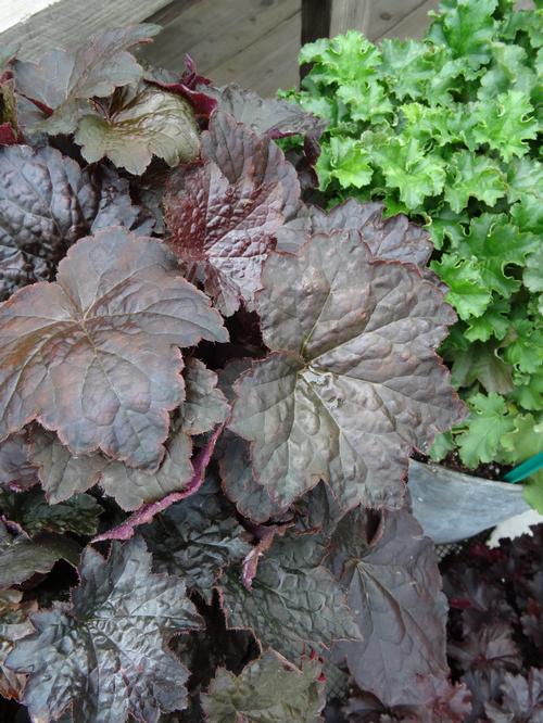
M 411 460 L 413 513 L 437 544 L 454 543 L 530 509 L 522 486 Z

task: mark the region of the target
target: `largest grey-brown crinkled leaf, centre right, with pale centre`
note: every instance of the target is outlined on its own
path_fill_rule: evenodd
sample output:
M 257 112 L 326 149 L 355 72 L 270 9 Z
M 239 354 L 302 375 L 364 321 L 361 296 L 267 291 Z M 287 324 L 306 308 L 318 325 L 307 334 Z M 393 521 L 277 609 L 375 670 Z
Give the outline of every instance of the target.
M 281 351 L 238 382 L 230 422 L 257 481 L 281 504 L 324 479 L 345 509 L 400 506 L 412 448 L 463 417 L 433 351 L 454 320 L 442 292 L 353 233 L 273 254 L 263 287 L 264 341 Z

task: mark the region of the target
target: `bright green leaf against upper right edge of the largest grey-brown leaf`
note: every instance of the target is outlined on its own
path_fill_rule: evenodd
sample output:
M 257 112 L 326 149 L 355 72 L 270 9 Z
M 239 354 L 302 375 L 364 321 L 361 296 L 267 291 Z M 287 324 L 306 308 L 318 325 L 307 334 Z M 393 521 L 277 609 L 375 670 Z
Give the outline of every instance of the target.
M 440 262 L 430 263 L 430 268 L 450 288 L 446 301 L 458 312 L 460 319 L 484 313 L 492 294 L 484 286 L 475 259 L 462 258 L 457 253 L 443 254 Z

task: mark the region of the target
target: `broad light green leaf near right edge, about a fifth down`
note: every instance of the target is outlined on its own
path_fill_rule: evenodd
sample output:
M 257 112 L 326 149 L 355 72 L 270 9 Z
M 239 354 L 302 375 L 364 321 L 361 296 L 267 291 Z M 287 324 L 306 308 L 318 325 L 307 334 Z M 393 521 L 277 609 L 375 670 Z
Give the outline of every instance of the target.
M 513 157 L 528 153 L 527 140 L 538 136 L 538 123 L 531 117 L 533 106 L 530 98 L 517 90 L 501 93 L 492 100 L 475 104 L 473 138 L 487 143 L 509 163 Z

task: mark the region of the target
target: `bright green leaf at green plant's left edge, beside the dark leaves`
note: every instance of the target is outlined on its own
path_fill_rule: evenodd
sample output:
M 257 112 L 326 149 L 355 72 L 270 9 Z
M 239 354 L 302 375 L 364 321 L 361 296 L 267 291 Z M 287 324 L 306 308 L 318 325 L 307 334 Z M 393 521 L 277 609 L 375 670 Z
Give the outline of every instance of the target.
M 374 175 L 369 160 L 362 141 L 332 136 L 323 144 L 316 165 L 320 189 L 326 190 L 332 179 L 344 188 L 367 186 Z

